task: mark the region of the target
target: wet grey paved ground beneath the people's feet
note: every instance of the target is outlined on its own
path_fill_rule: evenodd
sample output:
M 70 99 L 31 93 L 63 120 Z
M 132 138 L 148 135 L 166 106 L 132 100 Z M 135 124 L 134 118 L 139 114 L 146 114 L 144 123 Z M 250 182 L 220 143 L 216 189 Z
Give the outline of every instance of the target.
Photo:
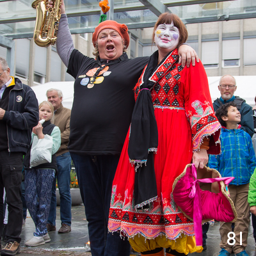
M 56 226 L 57 230 L 60 228 L 60 207 L 57 207 L 57 221 Z M 88 251 L 88 247 L 85 246 L 85 243 L 89 241 L 88 237 L 88 228 L 87 228 L 86 216 L 84 214 L 83 205 L 73 206 L 72 207 L 72 231 L 68 234 L 58 234 L 57 231 L 49 232 L 51 237 L 51 242 L 36 246 L 36 247 L 27 247 L 24 246 L 25 241 L 33 237 L 33 232 L 35 225 L 31 218 L 27 218 L 26 224 L 23 226 L 22 230 L 22 253 L 19 256 L 36 256 L 36 255 L 83 255 L 91 256 L 92 254 Z M 214 226 L 210 227 L 208 232 L 207 239 L 207 250 L 200 254 L 193 253 L 191 256 L 218 256 L 220 252 L 220 234 L 219 229 L 220 224 L 215 223 Z M 2 243 L 3 244 L 3 243 Z M 255 251 L 255 242 L 252 236 L 252 226 L 250 227 L 249 237 L 248 237 L 248 246 L 246 248 L 247 253 L 250 256 L 256 256 Z M 132 254 L 131 255 L 136 255 Z M 138 255 L 138 254 L 137 254 Z M 234 254 L 232 254 L 233 256 Z M 102 255 L 103 256 L 103 255 Z M 122 255 L 120 255 L 122 256 Z

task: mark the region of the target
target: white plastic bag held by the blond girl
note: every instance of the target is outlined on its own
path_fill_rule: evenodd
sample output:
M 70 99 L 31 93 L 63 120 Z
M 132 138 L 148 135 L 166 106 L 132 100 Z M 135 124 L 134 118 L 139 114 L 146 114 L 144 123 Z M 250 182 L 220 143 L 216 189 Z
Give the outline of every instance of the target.
M 30 168 L 52 161 L 52 137 L 45 134 L 44 139 L 34 136 L 30 151 Z

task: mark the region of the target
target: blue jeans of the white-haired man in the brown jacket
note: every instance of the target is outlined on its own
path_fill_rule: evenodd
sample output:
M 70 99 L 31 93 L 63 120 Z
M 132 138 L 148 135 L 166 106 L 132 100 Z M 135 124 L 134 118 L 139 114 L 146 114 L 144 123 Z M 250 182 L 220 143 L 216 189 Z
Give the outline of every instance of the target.
M 70 195 L 70 170 L 71 157 L 69 152 L 57 157 L 58 173 L 52 182 L 52 198 L 48 223 L 56 225 L 56 177 L 60 193 L 60 220 L 61 224 L 71 225 L 71 195 Z

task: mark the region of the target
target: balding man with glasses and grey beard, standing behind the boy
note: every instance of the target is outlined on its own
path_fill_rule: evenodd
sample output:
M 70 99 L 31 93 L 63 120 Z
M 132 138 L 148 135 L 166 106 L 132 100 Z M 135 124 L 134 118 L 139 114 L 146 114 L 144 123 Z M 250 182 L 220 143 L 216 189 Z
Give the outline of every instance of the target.
M 254 133 L 252 107 L 246 104 L 244 99 L 234 96 L 237 88 L 236 79 L 230 75 L 225 75 L 221 77 L 219 84 L 218 89 L 220 90 L 221 97 L 214 100 L 214 111 L 220 108 L 221 105 L 234 101 L 237 109 L 241 113 L 241 129 L 248 132 L 252 137 Z

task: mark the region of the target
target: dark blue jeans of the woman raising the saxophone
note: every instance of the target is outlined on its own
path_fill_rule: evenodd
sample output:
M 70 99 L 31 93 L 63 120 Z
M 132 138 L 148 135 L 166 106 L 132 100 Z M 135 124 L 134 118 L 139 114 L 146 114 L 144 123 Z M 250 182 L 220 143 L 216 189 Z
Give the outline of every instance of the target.
M 70 153 L 76 167 L 93 256 L 129 256 L 130 244 L 118 232 L 108 232 L 112 182 L 119 156 L 82 156 Z

